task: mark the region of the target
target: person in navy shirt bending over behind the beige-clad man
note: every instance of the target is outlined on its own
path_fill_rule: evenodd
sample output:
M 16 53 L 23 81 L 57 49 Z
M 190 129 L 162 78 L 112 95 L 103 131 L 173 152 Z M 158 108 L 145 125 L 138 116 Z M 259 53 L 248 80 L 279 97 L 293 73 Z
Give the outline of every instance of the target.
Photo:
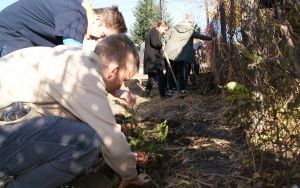
M 81 46 L 127 31 L 117 7 L 90 10 L 83 0 L 19 0 L 0 12 L 0 57 L 31 46 Z M 84 6 L 83 6 L 84 5 Z

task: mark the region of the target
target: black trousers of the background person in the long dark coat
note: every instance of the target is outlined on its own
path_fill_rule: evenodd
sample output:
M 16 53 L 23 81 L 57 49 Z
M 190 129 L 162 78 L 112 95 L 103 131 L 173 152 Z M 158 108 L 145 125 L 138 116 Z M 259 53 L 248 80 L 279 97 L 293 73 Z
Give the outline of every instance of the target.
M 151 73 L 151 72 L 148 73 L 146 92 L 148 92 L 148 93 L 151 92 L 155 81 L 157 81 L 157 84 L 158 84 L 159 95 L 161 97 L 165 96 L 167 81 L 166 81 L 165 74 L 163 73 L 162 70 L 157 71 L 156 73 Z

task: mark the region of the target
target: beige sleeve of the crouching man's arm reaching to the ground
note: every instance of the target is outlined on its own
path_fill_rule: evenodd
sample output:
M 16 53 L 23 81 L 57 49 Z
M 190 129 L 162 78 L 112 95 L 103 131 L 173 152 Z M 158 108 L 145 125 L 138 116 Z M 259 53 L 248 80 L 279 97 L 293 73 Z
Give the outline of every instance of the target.
M 59 82 L 49 83 L 48 95 L 93 127 L 101 137 L 103 157 L 116 173 L 125 180 L 134 178 L 135 155 L 115 122 L 101 76 L 92 64 L 66 67 L 61 78 L 56 78 Z

